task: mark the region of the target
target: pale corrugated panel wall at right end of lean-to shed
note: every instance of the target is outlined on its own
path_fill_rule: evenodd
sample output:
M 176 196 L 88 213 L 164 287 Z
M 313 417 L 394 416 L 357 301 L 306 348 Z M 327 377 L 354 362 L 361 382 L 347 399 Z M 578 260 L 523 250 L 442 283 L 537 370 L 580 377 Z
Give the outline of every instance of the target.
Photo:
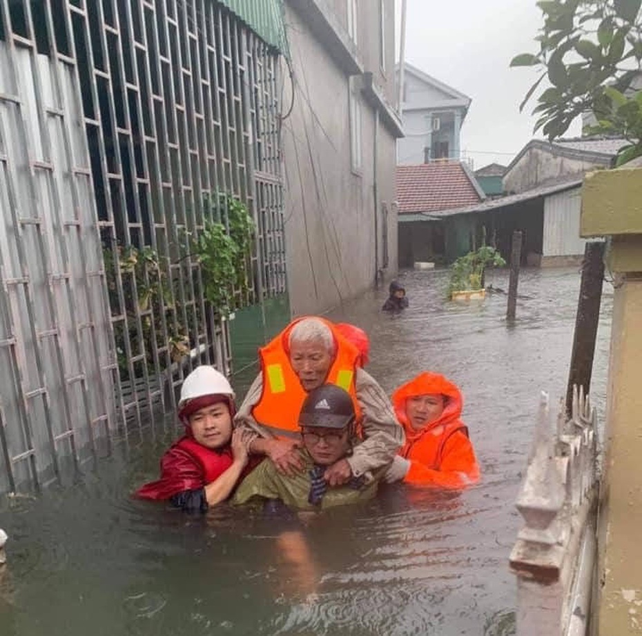
M 544 199 L 542 255 L 545 259 L 584 254 L 586 241 L 580 238 L 580 208 L 581 188 Z

